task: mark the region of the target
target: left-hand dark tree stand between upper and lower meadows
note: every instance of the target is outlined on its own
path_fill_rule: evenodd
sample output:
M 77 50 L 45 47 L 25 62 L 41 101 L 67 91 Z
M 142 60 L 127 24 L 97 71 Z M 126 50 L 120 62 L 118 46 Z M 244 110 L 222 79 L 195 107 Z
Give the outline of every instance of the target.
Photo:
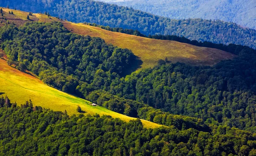
M 9 65 L 16 64 L 20 71 L 27 68 L 44 83 L 81 97 L 92 90 L 107 90 L 112 79 L 125 76 L 139 62 L 128 49 L 70 33 L 61 23 L 4 26 L 0 39 Z

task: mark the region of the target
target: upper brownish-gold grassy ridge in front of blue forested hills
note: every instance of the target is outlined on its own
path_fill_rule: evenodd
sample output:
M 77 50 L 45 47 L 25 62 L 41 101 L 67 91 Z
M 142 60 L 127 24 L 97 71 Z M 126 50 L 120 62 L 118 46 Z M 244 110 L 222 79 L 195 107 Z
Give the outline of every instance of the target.
M 5 12 L 13 11 L 15 15 L 6 14 L 7 19 L 14 23 L 26 20 L 27 12 L 11 9 L 3 9 Z M 15 20 L 15 17 L 19 20 Z M 143 64 L 142 68 L 154 67 L 160 59 L 167 58 L 171 62 L 184 62 L 190 65 L 214 65 L 221 60 L 233 59 L 236 55 L 214 48 L 198 47 L 186 43 L 170 40 L 154 40 L 145 37 L 107 31 L 102 28 L 88 26 L 82 23 L 71 23 L 58 20 L 55 17 L 47 17 L 44 14 L 33 14 L 33 21 L 50 22 L 60 21 L 67 30 L 81 35 L 101 37 L 106 43 L 111 43 L 120 48 L 130 49 Z

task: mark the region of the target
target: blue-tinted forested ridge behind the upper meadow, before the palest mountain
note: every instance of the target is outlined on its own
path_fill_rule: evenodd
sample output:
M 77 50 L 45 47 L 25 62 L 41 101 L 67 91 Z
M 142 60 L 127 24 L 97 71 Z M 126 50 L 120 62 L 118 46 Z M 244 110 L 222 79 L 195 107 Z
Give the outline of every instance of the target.
M 31 5 L 33 4 L 33 5 Z M 0 6 L 24 11 L 44 12 L 69 21 L 96 23 L 103 26 L 137 29 L 143 34 L 170 34 L 191 40 L 234 43 L 256 48 L 256 30 L 220 20 L 171 20 L 127 7 L 93 0 L 3 1 Z

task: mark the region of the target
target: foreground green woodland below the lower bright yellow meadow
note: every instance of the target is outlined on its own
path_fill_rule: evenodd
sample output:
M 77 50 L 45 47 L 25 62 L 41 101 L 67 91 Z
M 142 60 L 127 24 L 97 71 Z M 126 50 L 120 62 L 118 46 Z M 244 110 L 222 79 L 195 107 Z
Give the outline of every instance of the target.
M 211 133 L 175 126 L 143 128 L 140 119 L 20 107 L 0 97 L 0 155 L 255 156 L 256 133 L 215 126 Z

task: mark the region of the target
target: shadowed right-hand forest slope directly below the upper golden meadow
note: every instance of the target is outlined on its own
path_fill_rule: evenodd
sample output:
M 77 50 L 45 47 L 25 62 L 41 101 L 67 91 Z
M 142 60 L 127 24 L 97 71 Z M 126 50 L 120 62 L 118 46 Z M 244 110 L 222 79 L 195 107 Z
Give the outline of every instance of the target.
M 244 47 L 239 54 L 213 67 L 161 60 L 153 69 L 112 82 L 110 93 L 208 124 L 256 131 L 256 51 Z

